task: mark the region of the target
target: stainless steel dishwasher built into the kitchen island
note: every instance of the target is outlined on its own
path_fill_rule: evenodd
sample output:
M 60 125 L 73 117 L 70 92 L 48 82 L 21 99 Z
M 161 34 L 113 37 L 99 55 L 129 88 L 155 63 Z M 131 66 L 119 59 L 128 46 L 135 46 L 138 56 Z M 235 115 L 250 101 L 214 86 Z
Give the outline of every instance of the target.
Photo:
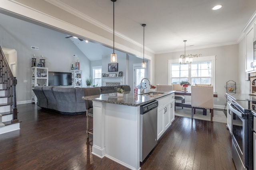
M 157 144 L 158 101 L 140 106 L 140 162 Z

